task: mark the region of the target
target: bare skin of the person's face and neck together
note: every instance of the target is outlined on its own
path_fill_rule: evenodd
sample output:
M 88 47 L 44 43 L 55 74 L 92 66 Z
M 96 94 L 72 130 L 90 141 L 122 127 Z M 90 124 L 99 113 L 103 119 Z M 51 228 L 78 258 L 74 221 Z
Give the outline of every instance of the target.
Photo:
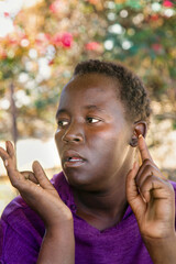
M 131 131 L 122 118 L 124 108 L 117 103 L 113 81 L 113 89 L 107 90 L 108 85 L 109 78 L 102 78 L 97 87 L 96 75 L 68 84 L 56 114 L 55 134 L 64 173 L 74 186 L 77 213 L 100 230 L 116 224 L 124 213 L 123 175 L 132 167 L 134 152 L 128 144 Z M 65 162 L 70 150 L 85 161 Z

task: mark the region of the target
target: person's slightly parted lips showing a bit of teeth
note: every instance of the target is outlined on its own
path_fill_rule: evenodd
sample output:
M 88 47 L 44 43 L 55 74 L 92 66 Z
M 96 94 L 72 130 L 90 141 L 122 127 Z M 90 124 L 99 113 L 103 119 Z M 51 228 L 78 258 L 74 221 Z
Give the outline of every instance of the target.
M 75 151 L 68 151 L 64 153 L 64 168 L 66 167 L 79 167 L 81 166 L 86 160 L 81 157 L 77 152 Z

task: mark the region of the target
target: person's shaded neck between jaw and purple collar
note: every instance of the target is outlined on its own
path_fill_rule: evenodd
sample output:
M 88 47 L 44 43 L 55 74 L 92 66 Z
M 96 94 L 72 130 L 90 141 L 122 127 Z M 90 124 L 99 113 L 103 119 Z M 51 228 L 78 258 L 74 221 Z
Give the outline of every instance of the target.
M 132 165 L 131 165 L 132 166 Z M 124 216 L 128 207 L 125 177 L 131 167 L 121 169 L 118 177 L 107 189 L 85 191 L 74 189 L 77 215 L 99 230 L 116 226 Z

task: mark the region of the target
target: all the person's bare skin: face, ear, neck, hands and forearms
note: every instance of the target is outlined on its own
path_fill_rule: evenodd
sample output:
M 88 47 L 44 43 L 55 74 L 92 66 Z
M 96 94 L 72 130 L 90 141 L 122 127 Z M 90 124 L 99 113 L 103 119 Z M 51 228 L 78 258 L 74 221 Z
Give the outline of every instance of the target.
M 74 189 L 77 215 L 105 230 L 122 219 L 130 204 L 153 263 L 174 264 L 174 190 L 150 155 L 142 136 L 146 133 L 145 122 L 127 119 L 116 85 L 110 77 L 89 74 L 73 78 L 62 92 L 55 140 L 65 176 Z M 141 166 L 135 162 L 136 146 Z M 0 156 L 12 185 L 45 222 L 37 263 L 73 264 L 73 217 L 41 165 L 33 164 L 26 180 L 26 173 L 16 170 L 10 142 L 6 151 L 0 148 Z

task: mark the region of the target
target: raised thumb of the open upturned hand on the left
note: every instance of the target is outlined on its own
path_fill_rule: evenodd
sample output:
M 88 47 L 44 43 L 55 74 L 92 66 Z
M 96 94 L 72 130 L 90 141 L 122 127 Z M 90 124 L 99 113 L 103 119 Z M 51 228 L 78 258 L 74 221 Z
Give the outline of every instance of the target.
M 35 178 L 37 179 L 42 188 L 44 189 L 54 188 L 38 162 L 35 161 L 32 165 L 32 168 L 35 174 Z

